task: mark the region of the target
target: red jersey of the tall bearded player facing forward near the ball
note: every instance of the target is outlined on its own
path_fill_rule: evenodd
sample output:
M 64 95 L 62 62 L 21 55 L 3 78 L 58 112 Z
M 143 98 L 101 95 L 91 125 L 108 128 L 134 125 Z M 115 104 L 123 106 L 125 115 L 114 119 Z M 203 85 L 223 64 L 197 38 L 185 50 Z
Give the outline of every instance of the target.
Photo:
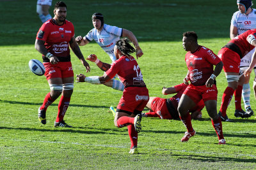
M 64 24 L 58 25 L 55 20 L 51 18 L 45 22 L 39 29 L 36 39 L 45 41 L 45 48 L 52 55 L 58 57 L 60 62 L 70 61 L 69 41 L 75 35 L 74 25 L 65 20 Z M 42 56 L 44 62 L 50 62 L 47 57 Z

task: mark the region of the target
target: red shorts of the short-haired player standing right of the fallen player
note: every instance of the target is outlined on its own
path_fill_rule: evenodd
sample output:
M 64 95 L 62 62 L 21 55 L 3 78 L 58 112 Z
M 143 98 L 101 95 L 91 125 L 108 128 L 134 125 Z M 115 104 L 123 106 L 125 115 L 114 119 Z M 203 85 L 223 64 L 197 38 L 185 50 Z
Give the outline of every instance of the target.
M 188 85 L 187 89 L 183 92 L 186 96 L 189 96 L 195 103 L 200 102 L 201 99 L 205 101 L 215 100 L 217 101 L 218 90 L 216 85 L 212 87 L 206 87 L 205 85 Z

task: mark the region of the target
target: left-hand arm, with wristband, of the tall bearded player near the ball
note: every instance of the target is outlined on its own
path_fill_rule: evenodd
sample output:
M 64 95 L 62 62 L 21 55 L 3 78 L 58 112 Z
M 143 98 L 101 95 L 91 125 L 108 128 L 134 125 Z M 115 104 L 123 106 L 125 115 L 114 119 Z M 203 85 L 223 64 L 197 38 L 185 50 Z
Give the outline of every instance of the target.
M 35 41 L 36 50 L 42 53 L 42 55 L 45 55 L 45 57 L 47 57 L 50 60 L 51 64 L 57 64 L 59 59 L 56 56 L 52 55 L 52 53 L 48 52 L 48 50 L 44 46 L 44 43 L 45 41 L 36 39 Z

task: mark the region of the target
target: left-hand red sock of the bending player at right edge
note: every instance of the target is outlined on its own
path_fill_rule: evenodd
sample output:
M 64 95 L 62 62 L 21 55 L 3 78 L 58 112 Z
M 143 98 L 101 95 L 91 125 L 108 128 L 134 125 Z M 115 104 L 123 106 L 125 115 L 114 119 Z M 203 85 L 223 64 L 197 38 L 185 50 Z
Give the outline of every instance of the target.
M 221 111 L 223 117 L 225 117 L 227 115 L 226 112 L 227 112 L 228 104 L 230 103 L 230 101 L 232 99 L 234 91 L 235 90 L 232 89 L 231 87 L 227 87 L 225 92 L 223 93 L 221 106 L 220 106 L 220 111 Z

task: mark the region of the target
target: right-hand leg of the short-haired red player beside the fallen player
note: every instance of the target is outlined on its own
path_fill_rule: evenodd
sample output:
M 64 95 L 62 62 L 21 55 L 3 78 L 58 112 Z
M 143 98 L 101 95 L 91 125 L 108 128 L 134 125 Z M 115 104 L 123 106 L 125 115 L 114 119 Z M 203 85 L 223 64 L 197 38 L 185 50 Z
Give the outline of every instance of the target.
M 216 134 L 219 139 L 219 144 L 225 144 L 225 139 L 223 137 L 221 118 L 217 113 L 217 101 L 216 100 L 208 100 L 205 101 L 205 108 L 209 117 L 211 117 L 212 126 L 214 127 Z

